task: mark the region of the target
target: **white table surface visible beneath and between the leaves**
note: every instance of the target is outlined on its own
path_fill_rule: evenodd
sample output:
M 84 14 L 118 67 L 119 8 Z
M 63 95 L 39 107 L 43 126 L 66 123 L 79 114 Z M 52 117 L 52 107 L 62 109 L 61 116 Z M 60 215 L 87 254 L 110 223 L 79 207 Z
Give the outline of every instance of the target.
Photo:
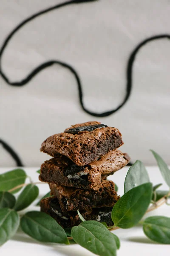
M 3 172 L 9 171 L 12 168 L 0 168 L 0 174 Z M 38 174 L 36 173 L 37 168 L 24 168 L 26 173 L 32 177 L 34 182 L 38 181 Z M 125 180 L 125 175 L 127 173 L 128 167 L 116 172 L 114 175 L 109 177 L 110 180 L 113 180 L 119 187 L 119 194 L 123 194 L 123 184 Z M 147 170 L 150 175 L 150 180 L 153 184 L 164 183 L 163 178 L 159 172 L 157 167 L 147 167 Z M 27 180 L 28 181 L 28 180 Z M 45 193 L 49 191 L 49 187 L 46 184 L 38 184 L 40 189 L 39 198 L 41 198 Z M 168 187 L 164 185 L 161 189 L 168 189 Z M 34 202 L 35 205 L 35 202 Z M 26 209 L 28 210 L 39 210 L 39 207 L 35 207 L 34 205 L 30 206 Z M 23 212 L 26 212 L 23 211 Z M 23 212 L 20 212 L 23 214 Z M 170 217 L 170 207 L 167 205 L 161 206 L 159 209 L 148 213 L 147 216 L 152 215 L 164 215 Z M 156 244 L 153 241 L 147 239 L 142 231 L 142 226 L 133 227 L 127 230 L 115 230 L 114 233 L 119 237 L 121 242 L 121 247 L 117 252 L 118 256 L 167 256 L 170 255 L 170 245 L 164 244 Z M 71 245 L 47 245 L 41 244 L 29 236 L 25 235 L 21 230 L 18 230 L 17 234 L 6 244 L 3 244 L 0 247 L 0 256 L 32 256 L 32 255 L 40 255 L 40 256 L 93 256 L 94 254 L 89 252 L 88 250 L 82 248 L 78 244 Z

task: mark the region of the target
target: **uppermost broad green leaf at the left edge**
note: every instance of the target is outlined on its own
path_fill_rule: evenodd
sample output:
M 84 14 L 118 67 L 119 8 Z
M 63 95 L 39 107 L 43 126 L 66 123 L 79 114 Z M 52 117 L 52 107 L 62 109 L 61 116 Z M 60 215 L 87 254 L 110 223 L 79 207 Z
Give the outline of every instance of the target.
M 18 185 L 25 183 L 26 173 L 23 169 L 15 169 L 0 175 L 0 191 L 8 191 Z M 20 189 L 15 189 L 11 193 L 17 193 Z

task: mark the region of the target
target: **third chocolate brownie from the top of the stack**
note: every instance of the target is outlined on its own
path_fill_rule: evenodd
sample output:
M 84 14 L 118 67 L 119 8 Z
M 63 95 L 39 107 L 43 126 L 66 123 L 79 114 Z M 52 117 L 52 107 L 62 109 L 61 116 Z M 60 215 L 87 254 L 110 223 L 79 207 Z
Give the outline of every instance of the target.
M 119 196 L 114 189 L 113 181 L 104 180 L 94 189 L 75 189 L 50 183 L 51 195 L 57 197 L 63 212 L 84 210 L 96 207 L 113 207 Z

